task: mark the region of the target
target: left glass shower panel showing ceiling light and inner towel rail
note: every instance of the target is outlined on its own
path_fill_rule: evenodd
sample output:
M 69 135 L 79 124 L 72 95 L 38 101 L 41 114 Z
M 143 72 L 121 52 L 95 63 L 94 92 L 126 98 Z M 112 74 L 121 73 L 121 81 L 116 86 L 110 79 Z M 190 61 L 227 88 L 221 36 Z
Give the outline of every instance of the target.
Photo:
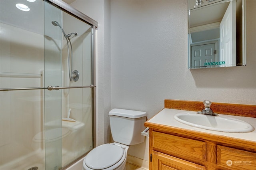
M 44 2 L 0 0 L 0 170 L 45 168 L 43 70 Z

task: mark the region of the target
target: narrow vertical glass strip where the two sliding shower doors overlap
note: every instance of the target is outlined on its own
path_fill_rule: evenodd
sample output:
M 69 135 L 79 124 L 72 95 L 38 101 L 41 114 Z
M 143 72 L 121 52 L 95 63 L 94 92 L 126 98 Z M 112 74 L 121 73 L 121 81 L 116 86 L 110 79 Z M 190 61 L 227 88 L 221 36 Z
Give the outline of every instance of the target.
M 44 87 L 62 85 L 62 34 L 52 21 L 62 21 L 62 12 L 44 2 Z M 61 22 L 60 22 L 61 24 Z M 62 93 L 44 92 L 45 169 L 62 168 Z

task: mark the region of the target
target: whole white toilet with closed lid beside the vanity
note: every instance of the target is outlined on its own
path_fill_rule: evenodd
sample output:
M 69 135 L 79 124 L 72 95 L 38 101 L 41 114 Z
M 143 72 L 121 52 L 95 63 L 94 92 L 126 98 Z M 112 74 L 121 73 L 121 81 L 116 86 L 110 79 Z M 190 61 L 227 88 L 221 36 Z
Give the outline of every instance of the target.
M 82 170 L 124 170 L 130 145 L 144 142 L 146 112 L 112 109 L 108 117 L 114 143 L 91 150 L 83 160 Z

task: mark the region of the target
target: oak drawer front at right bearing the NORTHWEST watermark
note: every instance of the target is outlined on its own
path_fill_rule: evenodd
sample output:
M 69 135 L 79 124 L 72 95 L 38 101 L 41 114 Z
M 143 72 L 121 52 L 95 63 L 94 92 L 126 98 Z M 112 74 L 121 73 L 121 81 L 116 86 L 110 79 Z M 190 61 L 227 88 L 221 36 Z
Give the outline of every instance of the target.
M 217 145 L 217 164 L 231 170 L 254 170 L 256 153 Z

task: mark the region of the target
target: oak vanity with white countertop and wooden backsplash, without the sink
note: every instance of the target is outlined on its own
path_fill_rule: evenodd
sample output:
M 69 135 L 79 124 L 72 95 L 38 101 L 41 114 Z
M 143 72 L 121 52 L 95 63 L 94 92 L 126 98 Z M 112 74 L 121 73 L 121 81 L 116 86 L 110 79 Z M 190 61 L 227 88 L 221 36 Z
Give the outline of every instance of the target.
M 179 123 L 174 115 L 200 111 L 202 102 L 166 99 L 164 106 L 144 123 L 149 127 L 150 170 L 256 170 L 256 130 L 230 133 L 194 128 Z M 218 114 L 250 117 L 244 120 L 256 127 L 256 105 L 212 103 L 211 107 Z

